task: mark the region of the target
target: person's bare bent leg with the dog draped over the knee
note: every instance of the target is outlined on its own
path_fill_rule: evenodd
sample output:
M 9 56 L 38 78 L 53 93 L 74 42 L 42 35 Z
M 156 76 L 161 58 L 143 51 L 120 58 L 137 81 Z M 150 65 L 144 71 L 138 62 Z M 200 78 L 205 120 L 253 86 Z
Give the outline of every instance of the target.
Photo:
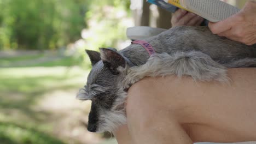
M 220 104 L 224 103 L 224 105 L 229 105 L 229 102 L 230 102 L 232 105 L 234 101 L 233 102 L 228 101 L 230 98 L 226 99 L 226 101 L 222 101 L 221 99 L 218 100 L 218 98 L 219 97 L 232 98 L 234 95 L 235 96 L 234 99 L 237 99 L 239 101 L 241 98 L 239 95 L 241 95 L 241 93 L 244 93 L 241 99 L 243 99 L 243 96 L 245 96 L 245 99 L 250 99 L 249 101 L 251 101 L 251 103 L 254 103 L 253 101 L 255 101 L 254 97 L 256 95 L 256 90 L 255 90 L 256 89 L 256 69 L 255 68 L 229 69 L 228 72 L 232 80 L 231 85 L 220 84 L 218 82 L 210 82 L 210 83 L 197 82 L 196 83 L 193 80 L 191 80 L 191 78 L 189 77 L 183 77 L 181 79 L 178 79 L 175 76 L 167 76 L 165 78 L 158 77 L 156 79 L 147 78 L 133 85 L 129 90 L 128 99 L 127 99 L 127 124 L 128 124 L 129 133 L 132 139 L 135 140 L 136 143 L 171 143 L 171 142 L 191 143 L 191 140 L 187 135 L 188 133 L 189 136 L 191 136 L 192 139 L 194 139 L 194 141 L 200 141 L 200 138 L 199 138 L 200 136 L 197 135 L 197 133 L 191 134 L 190 129 L 185 129 L 186 128 L 185 125 L 182 125 L 183 127 L 181 127 L 180 123 L 177 122 L 177 121 L 181 122 L 185 120 L 191 120 L 191 119 L 179 119 L 181 118 L 182 115 L 185 114 L 186 110 L 191 109 L 191 107 L 188 105 L 189 104 L 188 101 L 191 102 L 191 99 L 192 100 L 195 99 L 198 102 L 198 104 L 208 103 L 207 101 L 202 101 L 202 100 L 200 101 L 201 98 L 204 98 L 207 96 L 208 98 L 213 98 L 213 99 L 216 98 L 217 103 L 219 101 Z M 181 85 L 181 83 L 183 84 Z M 195 85 L 199 85 L 199 87 Z M 201 88 L 203 87 L 203 91 L 202 89 L 198 89 L 200 87 Z M 182 91 L 182 89 L 184 89 L 185 93 Z M 166 92 L 168 94 L 166 94 Z M 223 94 L 225 92 L 226 92 L 226 96 L 225 94 Z M 199 95 L 199 98 L 200 98 L 199 100 L 196 97 L 196 95 Z M 202 95 L 202 97 L 200 95 Z M 221 96 L 216 97 L 218 95 L 221 95 Z M 191 99 L 186 100 L 184 98 L 186 99 L 191 98 Z M 245 116 L 244 119 L 247 119 L 247 120 L 252 119 L 252 121 L 254 121 L 253 119 L 255 119 L 255 117 L 252 117 L 252 116 L 256 113 L 253 113 L 253 108 L 252 108 L 253 105 L 247 102 L 248 100 L 244 100 L 240 102 L 241 105 L 245 105 L 246 107 L 245 110 L 246 109 L 251 110 L 250 111 L 251 113 L 247 113 L 249 117 L 246 118 L 247 115 L 244 115 Z M 211 103 L 207 105 L 211 107 Z M 241 105 L 239 109 L 243 109 Z M 235 107 L 237 106 L 233 105 L 233 106 L 228 106 L 224 108 L 231 109 L 232 111 L 232 109 L 237 110 L 237 108 Z M 191 113 L 193 114 L 194 108 L 191 109 L 190 113 L 187 113 L 187 114 L 188 115 L 191 115 Z M 197 113 L 200 114 L 201 112 L 200 110 L 202 107 L 197 107 L 197 108 L 198 108 L 197 110 L 199 111 L 194 110 L 195 111 L 194 113 L 196 113 L 196 115 Z M 203 107 L 203 109 L 205 108 L 206 107 Z M 246 113 L 246 112 L 243 112 L 243 113 Z M 240 114 L 237 113 L 237 115 L 239 117 Z M 242 121 L 240 124 L 237 123 L 237 121 L 234 121 L 234 122 L 236 122 L 236 127 L 240 127 L 242 131 L 246 130 L 246 129 L 243 129 L 242 127 L 244 124 L 242 123 Z M 230 121 L 230 123 L 234 123 L 234 122 Z M 221 126 L 224 127 L 225 125 L 221 125 Z M 245 126 L 248 127 L 248 125 L 245 125 Z M 255 127 L 255 125 L 252 127 Z M 219 141 L 253 140 L 250 138 L 250 136 L 242 137 L 242 138 L 239 136 L 234 137 L 234 135 L 232 135 L 234 133 L 231 133 L 231 135 L 229 135 L 228 133 L 226 133 L 226 131 L 223 132 L 223 131 L 220 131 L 219 129 L 217 129 L 216 131 L 213 131 L 212 129 L 208 130 L 207 127 L 191 127 L 191 128 L 195 128 L 193 130 L 200 131 L 201 132 L 200 135 L 202 135 L 201 136 L 202 139 L 203 137 L 205 137 L 205 140 L 209 139 L 207 137 L 209 133 L 212 133 L 211 135 L 212 141 L 214 140 L 219 140 Z M 185 129 L 185 131 L 183 129 Z M 123 130 L 126 131 L 127 127 L 124 127 Z M 117 133 L 119 133 L 119 131 Z M 120 133 L 119 135 L 116 135 L 117 139 L 123 140 L 122 137 L 125 137 L 125 135 L 129 133 L 124 133 L 124 132 Z M 248 133 L 248 129 L 247 129 L 247 133 Z M 206 134 L 206 136 L 203 134 Z M 128 143 L 135 143 L 131 141 L 131 137 L 130 138 L 126 137 L 127 138 L 126 140 L 128 141 Z M 254 136 L 251 136 L 251 137 L 254 137 Z M 209 141 L 211 140 L 209 139 Z M 120 143 L 123 143 L 123 142 L 120 142 Z

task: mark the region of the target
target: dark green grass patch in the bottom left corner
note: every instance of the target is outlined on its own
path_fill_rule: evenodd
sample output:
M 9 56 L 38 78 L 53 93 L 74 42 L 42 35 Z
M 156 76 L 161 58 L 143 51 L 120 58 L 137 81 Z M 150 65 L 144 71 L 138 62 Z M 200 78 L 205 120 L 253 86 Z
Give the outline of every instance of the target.
M 62 144 L 61 140 L 34 128 L 27 128 L 15 123 L 0 122 L 0 141 L 2 144 L 36 143 Z

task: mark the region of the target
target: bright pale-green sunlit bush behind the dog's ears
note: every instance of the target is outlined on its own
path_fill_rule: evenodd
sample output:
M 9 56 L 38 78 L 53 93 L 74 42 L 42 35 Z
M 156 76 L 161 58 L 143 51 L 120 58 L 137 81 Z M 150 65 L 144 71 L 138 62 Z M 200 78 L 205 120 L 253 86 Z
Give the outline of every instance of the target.
M 86 37 L 87 49 L 98 47 L 116 47 L 118 40 L 126 39 L 127 1 L 105 1 L 105 5 L 92 4 L 86 13 L 89 37 Z M 101 3 L 102 4 L 102 3 Z M 110 5 L 106 5 L 110 4 Z M 86 34 L 86 32 L 85 32 Z

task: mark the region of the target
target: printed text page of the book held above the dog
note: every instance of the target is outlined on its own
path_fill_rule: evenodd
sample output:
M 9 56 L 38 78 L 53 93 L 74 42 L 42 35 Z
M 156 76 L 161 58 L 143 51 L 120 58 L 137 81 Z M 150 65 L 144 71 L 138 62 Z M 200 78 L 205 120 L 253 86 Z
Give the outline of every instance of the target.
M 182 0 L 185 8 L 212 21 L 222 21 L 236 14 L 240 9 L 219 0 Z

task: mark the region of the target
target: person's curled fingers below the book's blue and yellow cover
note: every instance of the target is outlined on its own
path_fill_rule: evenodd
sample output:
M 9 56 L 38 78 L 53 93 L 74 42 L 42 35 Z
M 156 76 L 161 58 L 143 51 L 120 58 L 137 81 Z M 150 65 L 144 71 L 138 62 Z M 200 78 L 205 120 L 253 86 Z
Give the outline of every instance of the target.
M 200 26 L 203 21 L 201 16 L 189 13 L 186 10 L 178 9 L 172 15 L 171 24 L 175 26 Z

